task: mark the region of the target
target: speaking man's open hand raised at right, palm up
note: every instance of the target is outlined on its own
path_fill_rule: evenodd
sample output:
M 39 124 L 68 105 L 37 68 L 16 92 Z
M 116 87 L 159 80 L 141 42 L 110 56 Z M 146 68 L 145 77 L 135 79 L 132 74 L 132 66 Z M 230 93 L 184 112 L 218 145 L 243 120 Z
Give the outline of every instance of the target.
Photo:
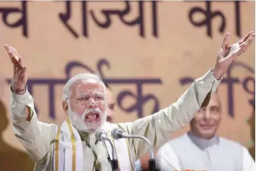
M 226 33 L 222 46 L 220 47 L 220 51 L 217 55 L 215 67 L 212 70 L 215 78 L 218 80 L 226 73 L 229 65 L 234 62 L 234 59 L 249 49 L 249 46 L 252 44 L 252 40 L 255 38 L 255 32 L 249 32 L 247 36 L 231 46 L 228 45 L 230 36 L 231 33 Z

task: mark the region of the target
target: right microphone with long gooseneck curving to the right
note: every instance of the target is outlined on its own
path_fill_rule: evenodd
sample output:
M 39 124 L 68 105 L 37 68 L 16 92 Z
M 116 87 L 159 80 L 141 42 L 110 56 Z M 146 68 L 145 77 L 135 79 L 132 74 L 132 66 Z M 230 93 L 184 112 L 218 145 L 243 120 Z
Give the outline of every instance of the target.
M 129 135 L 128 133 L 124 133 L 123 130 L 121 130 L 120 128 L 114 128 L 111 131 L 111 135 L 112 135 L 112 138 L 114 138 L 115 140 L 118 140 L 120 138 L 139 138 L 146 141 L 146 143 L 149 145 L 149 170 L 150 171 L 157 170 L 155 159 L 154 159 L 154 148 L 146 137 L 141 135 Z

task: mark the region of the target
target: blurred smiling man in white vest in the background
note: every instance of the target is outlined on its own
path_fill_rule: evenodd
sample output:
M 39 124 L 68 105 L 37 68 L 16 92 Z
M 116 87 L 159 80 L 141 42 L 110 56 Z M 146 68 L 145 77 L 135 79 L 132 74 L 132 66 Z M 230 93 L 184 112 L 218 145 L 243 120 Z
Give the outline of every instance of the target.
M 157 153 L 160 170 L 255 170 L 255 161 L 247 148 L 215 135 L 220 120 L 220 100 L 213 93 L 208 106 L 191 120 L 189 133 L 160 148 Z

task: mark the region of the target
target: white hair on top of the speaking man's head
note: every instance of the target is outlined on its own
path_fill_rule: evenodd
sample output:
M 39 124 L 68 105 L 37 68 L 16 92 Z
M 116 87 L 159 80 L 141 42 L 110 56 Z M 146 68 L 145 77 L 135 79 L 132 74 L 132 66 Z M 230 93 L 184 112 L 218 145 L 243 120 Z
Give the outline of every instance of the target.
M 71 94 L 70 88 L 71 86 L 73 86 L 75 82 L 77 82 L 78 80 L 88 80 L 88 79 L 98 80 L 102 84 L 104 89 L 104 94 L 106 95 L 106 86 L 104 85 L 102 79 L 99 78 L 98 75 L 95 75 L 92 73 L 83 73 L 83 74 L 75 75 L 67 81 L 63 89 L 63 94 L 62 94 L 63 101 L 67 101 L 67 99 L 70 99 L 70 94 Z

